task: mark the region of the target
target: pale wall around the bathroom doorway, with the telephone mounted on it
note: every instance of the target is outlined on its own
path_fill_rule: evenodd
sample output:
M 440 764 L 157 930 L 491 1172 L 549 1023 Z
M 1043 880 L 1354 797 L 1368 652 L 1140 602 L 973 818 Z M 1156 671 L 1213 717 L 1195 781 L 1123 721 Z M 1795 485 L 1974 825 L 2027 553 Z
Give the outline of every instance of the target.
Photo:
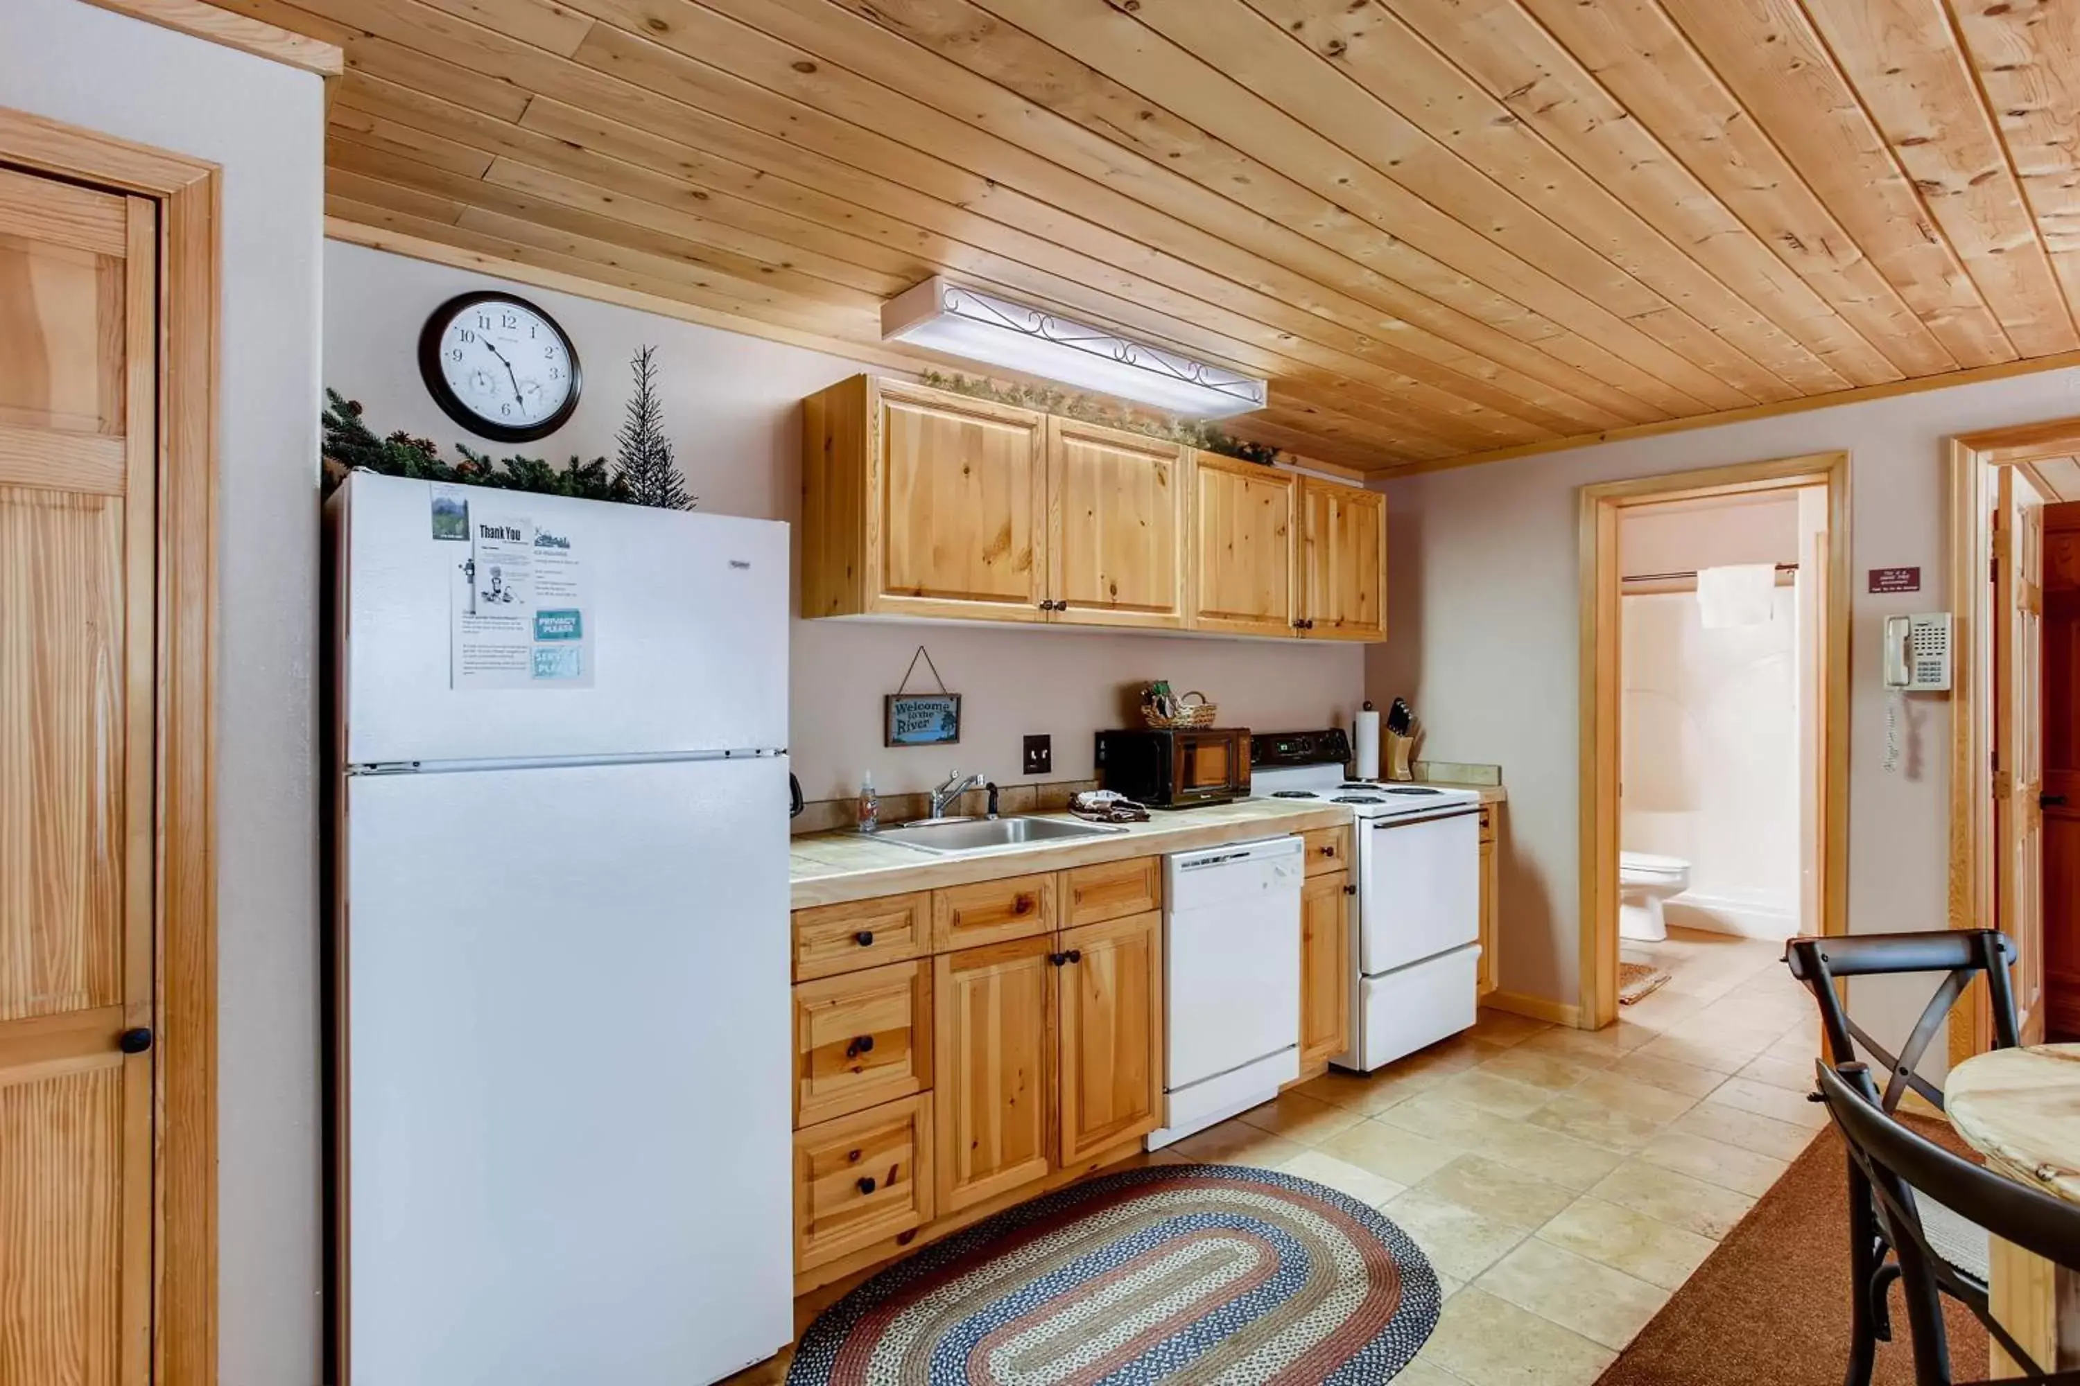
M 1964 384 L 1812 414 L 1606 443 L 1385 486 L 1394 638 L 1369 696 L 1404 694 L 1423 754 L 1491 761 L 1510 790 L 1502 860 L 1502 985 L 1577 997 L 1577 488 L 1589 482 L 1847 449 L 1853 488 L 1849 923 L 1945 923 L 1949 704 L 1909 700 L 1907 756 L 1882 769 L 1880 621 L 1947 603 L 1943 438 L 2080 414 L 2080 370 Z M 1880 565 L 1920 565 L 1922 592 L 1868 594 Z M 1903 989 L 1857 987 L 1889 1022 Z M 1897 1006 L 1893 1002 L 1899 1002 Z M 1941 1049 L 1941 1045 L 1936 1045 Z

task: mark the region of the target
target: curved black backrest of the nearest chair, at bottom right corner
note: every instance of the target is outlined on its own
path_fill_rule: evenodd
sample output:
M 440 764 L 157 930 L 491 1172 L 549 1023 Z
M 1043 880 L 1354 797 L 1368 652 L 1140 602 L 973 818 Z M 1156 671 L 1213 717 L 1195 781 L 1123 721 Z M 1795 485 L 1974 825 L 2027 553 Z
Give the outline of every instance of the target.
M 1870 1180 L 1884 1218 L 1889 1241 L 1899 1253 L 1899 1270 L 1909 1290 L 1932 1295 L 1936 1284 L 1949 1288 L 1986 1326 L 1986 1332 L 2007 1349 L 2026 1371 L 2040 1376 L 2043 1367 L 1993 1317 L 1980 1284 L 1964 1282 L 1928 1245 L 1916 1193 L 1943 1203 L 1959 1218 L 1976 1222 L 1991 1234 L 2034 1251 L 2053 1265 L 2080 1270 L 2080 1205 L 2055 1199 L 2011 1178 L 1959 1160 L 1918 1135 L 1878 1108 L 1878 1089 L 1864 1064 L 1828 1068 L 1814 1064 L 1820 1097 L 1828 1116 L 1849 1145 L 1864 1178 Z M 1914 1295 L 1907 1297 L 1909 1305 Z M 1932 1299 L 1924 1301 L 1932 1303 Z M 1941 1332 L 1941 1320 L 1928 1326 Z M 1916 1326 L 1916 1332 L 1922 1332 Z

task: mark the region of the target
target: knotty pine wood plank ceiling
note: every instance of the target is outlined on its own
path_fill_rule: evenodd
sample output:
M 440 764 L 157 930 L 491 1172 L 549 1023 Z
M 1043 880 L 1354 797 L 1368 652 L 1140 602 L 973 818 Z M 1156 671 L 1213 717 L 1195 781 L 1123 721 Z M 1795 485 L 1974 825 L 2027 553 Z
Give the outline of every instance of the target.
M 840 343 L 944 272 L 1364 470 L 2080 349 L 2076 0 L 218 0 L 335 218 Z

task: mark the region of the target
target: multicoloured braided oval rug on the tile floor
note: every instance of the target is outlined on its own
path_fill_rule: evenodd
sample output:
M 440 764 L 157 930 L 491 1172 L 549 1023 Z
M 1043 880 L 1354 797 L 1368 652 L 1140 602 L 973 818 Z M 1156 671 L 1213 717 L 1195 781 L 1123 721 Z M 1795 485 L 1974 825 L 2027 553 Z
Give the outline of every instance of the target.
M 1071 1184 L 826 1309 L 788 1386 L 1358 1386 L 1437 1326 L 1437 1276 L 1377 1209 L 1219 1164 Z

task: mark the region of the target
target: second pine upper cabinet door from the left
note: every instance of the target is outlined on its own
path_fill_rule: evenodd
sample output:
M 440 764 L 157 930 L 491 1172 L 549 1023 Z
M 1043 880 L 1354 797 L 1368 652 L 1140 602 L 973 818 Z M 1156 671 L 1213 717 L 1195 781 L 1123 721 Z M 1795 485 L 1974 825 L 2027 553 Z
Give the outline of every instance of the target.
M 1186 449 L 1048 418 L 1048 619 L 1186 623 Z

